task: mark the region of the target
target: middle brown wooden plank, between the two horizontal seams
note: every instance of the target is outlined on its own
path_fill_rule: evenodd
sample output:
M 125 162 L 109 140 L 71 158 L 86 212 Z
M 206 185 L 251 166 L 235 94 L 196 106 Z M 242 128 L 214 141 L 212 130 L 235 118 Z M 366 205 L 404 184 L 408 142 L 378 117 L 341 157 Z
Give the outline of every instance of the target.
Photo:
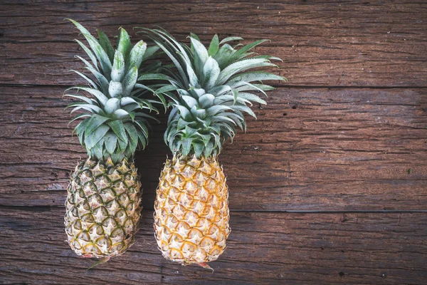
M 85 151 L 70 136 L 62 93 L 3 88 L 0 205 L 63 205 Z M 422 88 L 273 91 L 267 106 L 255 106 L 248 132 L 221 153 L 231 209 L 426 209 L 426 108 Z M 169 154 L 164 128 L 164 120 L 154 125 L 149 147 L 137 153 L 146 209 Z

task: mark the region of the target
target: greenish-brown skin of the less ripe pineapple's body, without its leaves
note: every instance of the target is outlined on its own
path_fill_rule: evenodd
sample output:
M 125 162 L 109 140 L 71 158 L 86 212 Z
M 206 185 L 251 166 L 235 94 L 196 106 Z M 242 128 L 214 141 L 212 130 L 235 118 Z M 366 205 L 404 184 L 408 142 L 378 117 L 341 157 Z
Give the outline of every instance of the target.
M 83 257 L 114 257 L 135 242 L 141 217 L 141 182 L 133 163 L 81 162 L 65 201 L 68 244 Z

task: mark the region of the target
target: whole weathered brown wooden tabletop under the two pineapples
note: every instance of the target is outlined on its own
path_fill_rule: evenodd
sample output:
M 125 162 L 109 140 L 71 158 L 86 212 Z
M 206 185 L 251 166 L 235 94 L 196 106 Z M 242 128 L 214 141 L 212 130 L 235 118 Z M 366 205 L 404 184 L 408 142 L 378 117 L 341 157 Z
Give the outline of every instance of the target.
M 0 284 L 427 284 L 426 1 L 1 2 Z M 86 270 L 94 260 L 64 242 L 65 187 L 85 157 L 62 99 L 82 83 L 69 70 L 83 37 L 64 18 L 109 36 L 270 38 L 256 51 L 283 58 L 289 82 L 221 153 L 232 232 L 214 274 L 154 242 L 164 116 L 136 157 L 137 243 Z

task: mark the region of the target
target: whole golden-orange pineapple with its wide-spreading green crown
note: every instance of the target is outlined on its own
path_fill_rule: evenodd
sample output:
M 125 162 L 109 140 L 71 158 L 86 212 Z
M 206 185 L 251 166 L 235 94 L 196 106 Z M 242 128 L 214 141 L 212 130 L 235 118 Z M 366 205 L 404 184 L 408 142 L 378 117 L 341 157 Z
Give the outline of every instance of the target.
M 174 63 L 176 71 L 154 76 L 169 82 L 172 105 L 164 141 L 173 153 L 159 178 L 154 204 L 154 233 L 166 259 L 183 265 L 207 264 L 226 249 L 230 234 L 228 186 L 218 162 L 221 146 L 233 140 L 236 127 L 246 130 L 243 113 L 265 104 L 256 93 L 274 89 L 263 80 L 285 80 L 252 68 L 275 66 L 273 56 L 255 56 L 251 48 L 266 40 L 232 47 L 240 37 L 222 41 L 215 35 L 209 48 L 191 34 L 191 46 L 161 29 L 144 29 Z M 236 48 L 241 46 L 241 48 Z M 170 92 L 176 91 L 177 95 Z

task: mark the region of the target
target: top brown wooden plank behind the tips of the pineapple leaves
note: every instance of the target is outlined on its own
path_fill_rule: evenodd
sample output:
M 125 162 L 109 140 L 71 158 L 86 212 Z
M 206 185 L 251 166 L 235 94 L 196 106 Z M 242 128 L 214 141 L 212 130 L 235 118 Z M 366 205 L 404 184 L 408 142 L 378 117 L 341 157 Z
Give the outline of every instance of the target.
M 256 51 L 283 58 L 292 86 L 427 86 L 426 1 L 13 1 L 0 6 L 0 83 L 74 84 L 83 51 L 67 17 L 110 36 L 161 25 L 180 40 L 270 38 Z

